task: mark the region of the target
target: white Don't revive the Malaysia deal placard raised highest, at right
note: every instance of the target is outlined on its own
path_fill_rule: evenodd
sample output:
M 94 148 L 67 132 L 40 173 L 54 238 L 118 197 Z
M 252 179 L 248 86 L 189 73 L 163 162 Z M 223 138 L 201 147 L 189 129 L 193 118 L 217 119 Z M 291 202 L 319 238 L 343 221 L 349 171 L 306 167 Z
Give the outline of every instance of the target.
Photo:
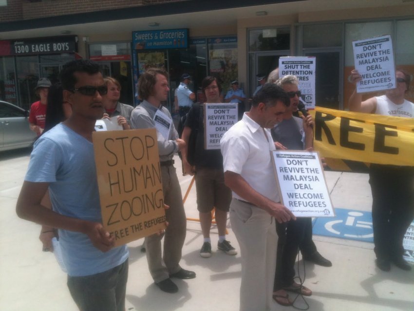
M 355 69 L 362 76 L 357 92 L 374 92 L 395 88 L 395 65 L 391 36 L 352 42 Z

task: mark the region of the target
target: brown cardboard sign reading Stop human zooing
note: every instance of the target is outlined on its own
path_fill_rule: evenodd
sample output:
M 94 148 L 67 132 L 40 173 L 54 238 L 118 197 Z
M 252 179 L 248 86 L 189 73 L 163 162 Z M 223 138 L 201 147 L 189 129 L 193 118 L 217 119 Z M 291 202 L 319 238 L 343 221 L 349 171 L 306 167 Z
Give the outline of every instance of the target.
M 166 228 L 155 129 L 94 132 L 102 224 L 123 245 Z

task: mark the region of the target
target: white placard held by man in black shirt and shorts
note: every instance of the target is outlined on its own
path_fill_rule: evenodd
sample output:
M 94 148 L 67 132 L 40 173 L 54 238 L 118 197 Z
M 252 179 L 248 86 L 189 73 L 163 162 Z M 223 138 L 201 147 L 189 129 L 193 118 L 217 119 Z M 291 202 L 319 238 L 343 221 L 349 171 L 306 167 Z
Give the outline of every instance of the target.
M 204 104 L 204 148 L 220 149 L 220 139 L 237 122 L 235 103 Z

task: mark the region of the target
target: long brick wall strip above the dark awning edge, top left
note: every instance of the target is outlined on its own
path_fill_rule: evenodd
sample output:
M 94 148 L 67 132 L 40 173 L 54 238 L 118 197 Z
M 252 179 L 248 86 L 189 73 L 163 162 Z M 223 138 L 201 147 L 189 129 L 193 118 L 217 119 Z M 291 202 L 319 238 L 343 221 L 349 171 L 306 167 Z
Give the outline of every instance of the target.
M 52 0 L 22 3 L 23 19 L 103 11 L 182 0 Z M 22 2 L 22 1 L 20 1 Z

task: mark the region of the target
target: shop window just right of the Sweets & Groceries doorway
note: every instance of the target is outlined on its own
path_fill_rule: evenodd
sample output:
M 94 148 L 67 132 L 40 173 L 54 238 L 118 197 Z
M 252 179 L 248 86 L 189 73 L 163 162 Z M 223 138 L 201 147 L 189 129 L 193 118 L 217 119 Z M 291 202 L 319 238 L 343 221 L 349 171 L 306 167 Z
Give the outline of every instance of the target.
M 237 38 L 208 39 L 210 76 L 222 83 L 226 94 L 230 82 L 238 78 Z

